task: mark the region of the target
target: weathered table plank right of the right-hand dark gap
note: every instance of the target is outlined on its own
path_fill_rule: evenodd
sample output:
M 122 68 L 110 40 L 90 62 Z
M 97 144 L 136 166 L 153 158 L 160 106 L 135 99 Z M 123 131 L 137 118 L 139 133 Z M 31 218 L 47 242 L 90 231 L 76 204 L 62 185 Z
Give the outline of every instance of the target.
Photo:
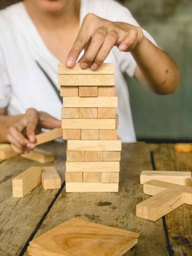
M 192 153 L 176 152 L 173 144 L 160 144 L 154 150 L 158 171 L 192 171 Z M 165 216 L 170 255 L 192 255 L 192 206 L 183 204 Z

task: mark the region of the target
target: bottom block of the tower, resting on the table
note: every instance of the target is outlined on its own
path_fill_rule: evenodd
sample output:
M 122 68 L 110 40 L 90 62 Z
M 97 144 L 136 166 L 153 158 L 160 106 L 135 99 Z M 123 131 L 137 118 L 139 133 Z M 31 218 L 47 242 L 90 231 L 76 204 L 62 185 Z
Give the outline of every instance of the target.
M 66 192 L 118 192 L 118 183 L 66 182 Z

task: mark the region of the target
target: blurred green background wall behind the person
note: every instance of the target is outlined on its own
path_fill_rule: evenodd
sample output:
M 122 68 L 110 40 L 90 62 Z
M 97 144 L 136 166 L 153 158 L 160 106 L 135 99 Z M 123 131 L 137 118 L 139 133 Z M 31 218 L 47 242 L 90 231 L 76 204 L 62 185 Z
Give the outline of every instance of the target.
M 0 0 L 0 9 L 18 0 Z M 159 96 L 127 77 L 136 137 L 192 141 L 192 0 L 122 0 L 134 18 L 174 58 L 181 87 Z

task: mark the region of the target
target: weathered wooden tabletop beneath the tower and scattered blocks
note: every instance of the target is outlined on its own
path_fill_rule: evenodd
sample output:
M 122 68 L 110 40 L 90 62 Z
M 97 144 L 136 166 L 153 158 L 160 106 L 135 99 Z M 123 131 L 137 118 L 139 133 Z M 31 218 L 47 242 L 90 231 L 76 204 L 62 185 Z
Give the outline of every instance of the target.
M 178 153 L 172 144 L 123 144 L 118 193 L 65 193 L 66 143 L 40 148 L 54 152 L 62 188 L 43 190 L 41 184 L 25 198 L 12 197 L 12 178 L 39 164 L 20 156 L 0 164 L 0 255 L 28 255 L 29 241 L 69 220 L 80 218 L 135 231 L 138 244 L 125 255 L 192 255 L 192 206 L 183 204 L 152 222 L 136 217 L 135 206 L 149 196 L 139 183 L 142 170 L 192 171 L 192 153 Z M 53 163 L 52 163 L 53 164 Z

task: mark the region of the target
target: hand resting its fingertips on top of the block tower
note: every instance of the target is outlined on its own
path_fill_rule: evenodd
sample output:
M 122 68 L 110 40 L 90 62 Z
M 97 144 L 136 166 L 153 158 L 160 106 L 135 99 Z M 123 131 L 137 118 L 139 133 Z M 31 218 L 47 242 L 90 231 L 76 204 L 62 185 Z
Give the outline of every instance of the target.
M 114 46 L 120 52 L 132 52 L 141 45 L 143 37 L 140 27 L 125 22 L 112 22 L 88 13 L 66 59 L 66 65 L 73 67 L 84 49 L 84 54 L 78 61 L 80 67 L 96 70 Z

